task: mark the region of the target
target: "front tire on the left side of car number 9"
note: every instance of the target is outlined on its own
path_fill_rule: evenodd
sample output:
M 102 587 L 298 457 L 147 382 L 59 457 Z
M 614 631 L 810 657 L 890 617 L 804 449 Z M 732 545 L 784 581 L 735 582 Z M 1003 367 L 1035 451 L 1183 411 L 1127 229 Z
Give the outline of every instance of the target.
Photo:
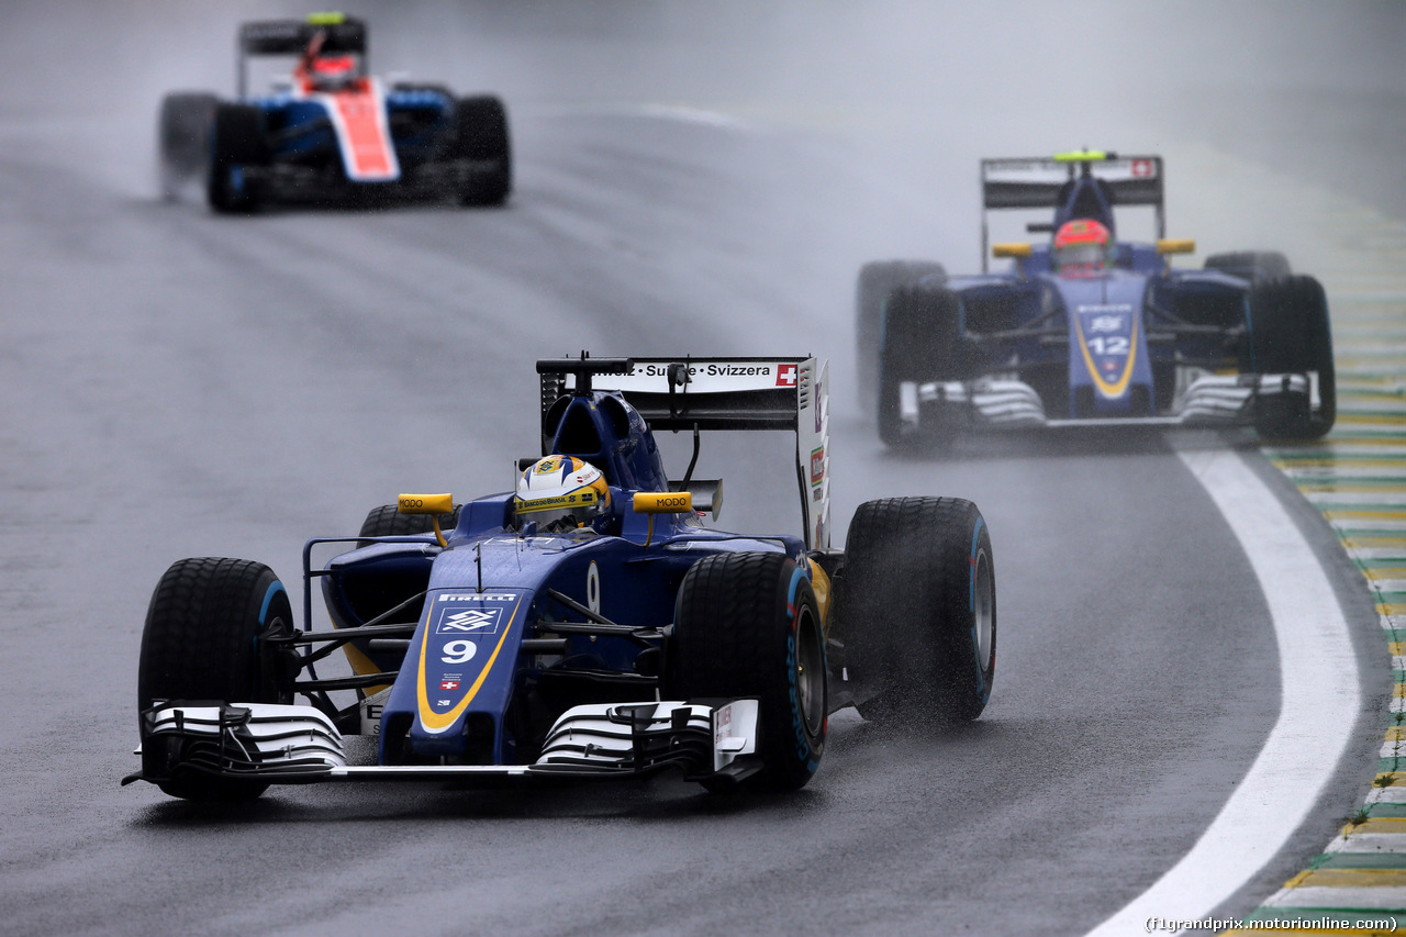
M 159 699 L 291 702 L 264 639 L 292 630 L 288 591 L 267 566 L 249 560 L 177 560 L 146 609 L 136 703 Z M 160 782 L 187 801 L 249 801 L 269 785 L 190 771 Z

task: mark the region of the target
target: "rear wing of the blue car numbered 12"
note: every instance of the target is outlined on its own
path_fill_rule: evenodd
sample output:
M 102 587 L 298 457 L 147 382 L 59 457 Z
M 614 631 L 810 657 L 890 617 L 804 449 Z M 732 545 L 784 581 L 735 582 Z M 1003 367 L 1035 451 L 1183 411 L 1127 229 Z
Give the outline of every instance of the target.
M 986 272 L 987 212 L 1005 208 L 1062 207 L 1078 177 L 1092 177 L 1115 205 L 1150 205 L 1157 238 L 1167 236 L 1161 156 L 1121 156 L 1099 151 L 981 160 L 981 272 Z M 1040 229 L 1033 227 L 1032 229 Z

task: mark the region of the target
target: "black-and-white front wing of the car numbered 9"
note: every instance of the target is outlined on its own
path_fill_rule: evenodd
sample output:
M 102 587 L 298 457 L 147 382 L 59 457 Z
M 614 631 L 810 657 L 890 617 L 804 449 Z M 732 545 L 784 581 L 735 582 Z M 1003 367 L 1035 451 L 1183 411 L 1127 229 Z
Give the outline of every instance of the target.
M 522 765 L 357 765 L 321 710 L 304 705 L 162 702 L 142 712 L 142 770 L 122 784 L 188 772 L 267 784 L 638 777 L 681 768 L 689 779 L 754 774 L 755 699 L 574 706 L 541 754 Z

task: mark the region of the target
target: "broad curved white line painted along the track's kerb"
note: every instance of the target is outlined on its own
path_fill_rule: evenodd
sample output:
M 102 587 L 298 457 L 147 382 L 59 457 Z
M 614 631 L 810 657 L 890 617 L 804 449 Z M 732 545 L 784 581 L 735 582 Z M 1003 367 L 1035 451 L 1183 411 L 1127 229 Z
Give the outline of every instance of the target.
M 1205 919 L 1230 898 L 1308 816 L 1347 747 L 1361 702 L 1343 609 L 1284 506 L 1233 452 L 1178 454 L 1220 508 L 1260 580 L 1279 650 L 1279 718 L 1191 851 L 1094 929 L 1098 937 L 1143 933 L 1149 917 Z

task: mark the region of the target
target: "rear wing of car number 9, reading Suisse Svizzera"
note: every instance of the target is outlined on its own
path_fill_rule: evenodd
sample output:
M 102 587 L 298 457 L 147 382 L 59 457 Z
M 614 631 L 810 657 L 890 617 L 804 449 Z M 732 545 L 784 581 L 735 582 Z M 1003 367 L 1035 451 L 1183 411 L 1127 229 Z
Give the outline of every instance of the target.
M 574 359 L 537 363 L 543 432 L 547 411 L 575 390 Z M 621 359 L 623 360 L 623 359 Z M 620 391 L 650 429 L 780 429 L 796 433 L 806 546 L 830 547 L 830 363 L 814 357 L 634 357 L 620 374 L 593 374 Z

